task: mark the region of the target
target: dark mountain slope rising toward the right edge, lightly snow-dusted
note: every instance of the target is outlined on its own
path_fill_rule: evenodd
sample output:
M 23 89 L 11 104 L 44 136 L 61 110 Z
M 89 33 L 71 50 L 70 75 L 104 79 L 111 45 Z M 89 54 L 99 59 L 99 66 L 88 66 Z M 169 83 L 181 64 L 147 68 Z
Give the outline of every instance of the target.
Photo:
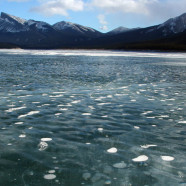
M 163 40 L 186 31 L 185 22 L 186 13 L 156 26 L 130 29 L 111 36 L 106 34 L 96 38 L 92 45 L 100 48 L 125 48 L 125 45 L 129 43 L 149 43 L 154 40 Z

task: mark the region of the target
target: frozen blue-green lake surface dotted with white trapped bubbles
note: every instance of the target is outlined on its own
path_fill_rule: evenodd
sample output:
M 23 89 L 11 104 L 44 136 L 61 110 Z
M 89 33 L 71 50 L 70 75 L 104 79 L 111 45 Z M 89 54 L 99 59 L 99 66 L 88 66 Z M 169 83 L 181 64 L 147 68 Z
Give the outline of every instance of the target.
M 1 186 L 186 186 L 186 54 L 0 50 Z

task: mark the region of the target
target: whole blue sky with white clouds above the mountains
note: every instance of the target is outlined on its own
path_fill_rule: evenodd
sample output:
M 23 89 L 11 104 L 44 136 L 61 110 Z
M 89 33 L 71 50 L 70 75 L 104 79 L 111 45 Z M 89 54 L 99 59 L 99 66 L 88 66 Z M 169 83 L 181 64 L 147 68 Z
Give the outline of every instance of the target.
M 186 0 L 0 0 L 0 11 L 54 24 L 68 21 L 108 32 L 148 27 L 186 13 Z

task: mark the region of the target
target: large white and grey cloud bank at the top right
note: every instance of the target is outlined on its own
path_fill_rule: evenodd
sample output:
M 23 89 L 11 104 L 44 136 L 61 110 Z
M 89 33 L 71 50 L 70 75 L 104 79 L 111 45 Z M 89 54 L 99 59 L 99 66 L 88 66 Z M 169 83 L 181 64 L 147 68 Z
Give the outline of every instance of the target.
M 186 12 L 186 0 L 91 0 L 90 5 L 109 14 L 130 13 L 163 19 Z

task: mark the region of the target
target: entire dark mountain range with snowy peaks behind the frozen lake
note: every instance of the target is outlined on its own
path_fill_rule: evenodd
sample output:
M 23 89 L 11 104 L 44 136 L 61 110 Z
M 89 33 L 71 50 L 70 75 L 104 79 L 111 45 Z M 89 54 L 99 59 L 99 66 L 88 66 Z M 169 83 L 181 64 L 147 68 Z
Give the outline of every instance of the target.
M 50 25 L 2 12 L 0 48 L 186 50 L 186 13 L 147 28 L 119 27 L 101 33 L 75 23 Z

